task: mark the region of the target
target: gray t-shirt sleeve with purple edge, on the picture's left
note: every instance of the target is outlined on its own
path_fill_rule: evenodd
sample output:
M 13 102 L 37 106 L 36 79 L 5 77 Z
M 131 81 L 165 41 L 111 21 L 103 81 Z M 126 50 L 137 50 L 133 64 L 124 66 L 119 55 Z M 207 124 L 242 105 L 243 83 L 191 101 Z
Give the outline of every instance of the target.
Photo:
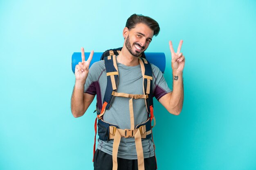
M 93 63 L 89 69 L 89 73 L 85 81 L 84 92 L 91 95 L 96 95 L 97 80 L 97 67 L 96 64 Z

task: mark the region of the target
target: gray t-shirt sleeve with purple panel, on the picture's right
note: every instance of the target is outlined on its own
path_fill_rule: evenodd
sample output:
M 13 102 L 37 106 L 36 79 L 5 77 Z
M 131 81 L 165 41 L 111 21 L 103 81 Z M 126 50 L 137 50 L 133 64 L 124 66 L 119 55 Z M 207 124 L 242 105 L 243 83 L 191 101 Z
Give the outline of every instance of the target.
M 153 64 L 151 64 L 151 67 L 153 73 L 153 96 L 159 100 L 161 97 L 171 92 L 171 89 L 168 87 L 164 75 L 159 68 Z

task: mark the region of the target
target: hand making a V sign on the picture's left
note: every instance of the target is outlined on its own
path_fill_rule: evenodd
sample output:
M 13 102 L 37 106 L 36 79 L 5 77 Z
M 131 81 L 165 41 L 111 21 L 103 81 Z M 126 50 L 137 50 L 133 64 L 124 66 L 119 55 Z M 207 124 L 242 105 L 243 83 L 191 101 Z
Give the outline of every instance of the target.
M 85 55 L 84 55 L 84 49 L 83 47 L 81 48 L 81 53 L 82 53 L 82 62 L 79 62 L 77 65 L 76 65 L 76 68 L 75 68 L 75 76 L 76 76 L 76 81 L 79 81 L 81 83 L 85 83 L 85 80 L 88 76 L 88 73 L 89 73 L 89 65 L 90 65 L 90 62 L 92 61 L 92 56 L 93 56 L 93 50 L 91 51 L 90 53 L 90 56 L 88 58 L 87 61 L 85 61 Z

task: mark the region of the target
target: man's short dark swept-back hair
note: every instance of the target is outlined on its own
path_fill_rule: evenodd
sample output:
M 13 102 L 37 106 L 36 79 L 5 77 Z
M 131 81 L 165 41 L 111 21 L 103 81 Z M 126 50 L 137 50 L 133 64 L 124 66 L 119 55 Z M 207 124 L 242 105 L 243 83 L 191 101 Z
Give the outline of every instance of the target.
M 152 29 L 154 31 L 154 35 L 157 36 L 159 31 L 160 31 L 160 27 L 159 24 L 153 20 L 150 17 L 144 16 L 144 15 L 137 15 L 132 14 L 126 21 L 126 27 L 130 30 L 132 28 L 135 28 L 135 26 L 139 23 L 143 23 L 146 24 L 150 29 Z

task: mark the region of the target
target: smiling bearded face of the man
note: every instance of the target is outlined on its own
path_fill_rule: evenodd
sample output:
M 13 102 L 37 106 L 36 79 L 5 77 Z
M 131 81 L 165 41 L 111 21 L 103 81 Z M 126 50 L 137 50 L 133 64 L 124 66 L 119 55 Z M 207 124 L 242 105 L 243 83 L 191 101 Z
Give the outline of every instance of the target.
M 139 57 L 139 55 L 148 48 L 153 35 L 153 30 L 151 30 L 146 24 L 139 23 L 135 28 L 128 31 L 125 46 L 130 54 L 135 57 Z

